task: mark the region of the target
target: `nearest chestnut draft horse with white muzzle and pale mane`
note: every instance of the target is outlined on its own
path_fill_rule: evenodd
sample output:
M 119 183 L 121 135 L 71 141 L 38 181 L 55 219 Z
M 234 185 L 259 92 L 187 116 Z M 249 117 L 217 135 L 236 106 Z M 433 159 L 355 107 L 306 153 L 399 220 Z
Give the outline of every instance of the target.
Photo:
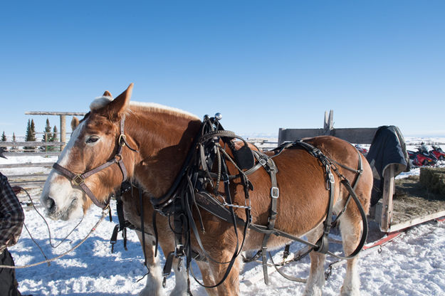
M 73 132 L 56 169 L 48 176 L 41 196 L 41 202 L 52 218 L 68 219 L 80 215 L 93 202 L 103 206 L 107 196 L 120 186 L 122 179 L 136 181 L 145 194 L 150 194 L 154 199 L 166 194 L 174 183 L 189 149 L 193 148 L 201 122 L 197 117 L 180 110 L 160 105 L 130 104 L 131 91 L 132 85 L 115 100 L 110 100 L 110 97 L 96 99 L 90 105 L 88 115 Z M 362 176 L 355 186 L 355 193 L 367 211 L 372 171 L 366 159 L 352 145 L 335 137 L 315 137 L 306 142 L 320 149 L 336 163 L 343 164 L 337 169 L 349 180 L 354 180 L 356 176 L 345 166 L 357 168 L 358 157 L 361 157 Z M 315 243 L 323 233 L 330 196 L 325 186 L 324 167 L 305 149 L 285 149 L 273 160 L 278 167 L 276 179 L 280 192 L 275 228 L 292 236 L 306 236 L 311 243 Z M 232 164 L 227 166 L 231 174 L 236 174 Z M 340 185 L 338 175 L 334 174 L 333 178 L 333 213 L 340 213 L 350 193 Z M 250 193 L 252 223 L 265 226 L 271 206 L 271 177 L 265 170 L 258 169 L 248 176 L 248 180 L 254 188 Z M 241 180 L 232 181 L 230 191 L 233 203 L 243 205 L 245 196 Z M 132 204 L 135 206 L 134 211 L 140 211 L 137 209 L 137 201 Z M 246 220 L 243 208 L 234 208 L 234 212 Z M 194 211 L 194 218 L 198 221 L 197 211 Z M 219 263 L 229 262 L 234 246 L 240 243 L 242 237 L 235 235 L 231 223 L 221 221 L 207 211 L 201 211 L 200 218 L 205 229 L 205 233 L 200 233 L 200 238 L 207 254 L 199 248 L 192 233 L 193 250 L 203 257 L 209 255 Z M 159 241 L 167 254 L 174 250 L 174 237 L 168 223 L 160 224 Z M 362 228 L 357 206 L 348 203 L 340 216 L 346 255 L 357 247 Z M 242 226 L 239 226 L 241 230 Z M 263 237 L 263 233 L 248 230 L 243 250 L 260 249 Z M 289 238 L 271 236 L 267 245 L 268 248 L 278 248 L 288 241 Z M 321 295 L 325 281 L 325 255 L 313 251 L 310 260 L 305 295 Z M 199 263 L 205 285 L 214 285 L 224 276 L 226 264 L 219 263 L 212 260 Z M 226 280 L 216 289 L 207 291 L 216 295 L 239 295 L 239 266 L 240 260 L 237 258 Z M 347 262 L 341 292 L 342 295 L 359 295 L 359 288 L 357 257 L 354 257 Z

